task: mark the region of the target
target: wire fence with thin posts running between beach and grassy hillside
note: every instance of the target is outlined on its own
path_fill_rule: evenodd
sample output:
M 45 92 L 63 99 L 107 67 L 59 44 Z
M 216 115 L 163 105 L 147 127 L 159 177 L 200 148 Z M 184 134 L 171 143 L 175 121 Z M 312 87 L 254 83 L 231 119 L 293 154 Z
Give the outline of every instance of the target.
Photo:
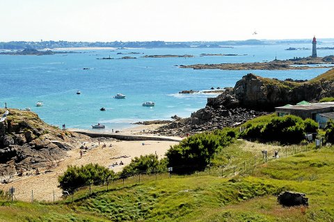
M 75 202 L 81 200 L 82 198 L 88 198 L 89 196 L 95 195 L 97 193 L 124 189 L 133 187 L 140 184 L 146 184 L 149 182 L 154 182 L 157 180 L 166 180 L 172 178 L 186 178 L 186 177 L 198 177 L 198 180 L 205 180 L 204 176 L 212 177 L 234 177 L 236 175 L 243 175 L 252 173 L 257 166 L 261 166 L 268 161 L 274 161 L 276 159 L 281 159 L 284 157 L 290 157 L 294 154 L 299 154 L 301 152 L 308 152 L 313 150 L 314 147 L 311 146 L 292 146 L 292 147 L 283 147 L 280 149 L 279 153 L 269 155 L 269 152 L 262 150 L 260 154 L 254 155 L 253 157 L 243 159 L 237 163 L 225 164 L 222 166 L 207 166 L 205 170 L 198 171 L 198 166 L 175 166 L 173 168 L 166 168 L 164 171 L 141 171 L 129 175 L 122 175 L 117 177 L 109 177 L 106 180 L 94 181 L 90 184 L 86 184 L 80 187 L 71 187 L 69 191 L 63 191 L 63 193 L 55 192 L 47 193 L 43 192 L 42 200 L 45 200 L 47 203 L 56 203 L 57 200 L 64 200 L 65 203 Z M 279 156 L 278 156 L 279 154 Z M 182 172 L 191 172 L 191 173 L 182 173 L 177 174 L 175 171 L 182 170 Z M 17 198 L 15 196 L 15 187 L 0 193 L 0 200 L 2 202 L 13 202 Z M 40 201 L 40 195 L 38 191 L 24 191 L 25 198 L 22 200 L 30 200 L 31 203 L 34 203 L 36 200 Z M 22 195 L 21 195 L 22 196 Z M 21 198 L 18 198 L 21 200 Z

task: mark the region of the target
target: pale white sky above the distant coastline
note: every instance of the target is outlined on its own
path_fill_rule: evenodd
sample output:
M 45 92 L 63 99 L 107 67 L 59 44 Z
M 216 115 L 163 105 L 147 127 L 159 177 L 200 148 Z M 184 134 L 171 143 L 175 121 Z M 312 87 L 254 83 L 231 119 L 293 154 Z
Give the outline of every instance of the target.
M 0 42 L 334 38 L 333 8 L 333 0 L 0 0 Z

